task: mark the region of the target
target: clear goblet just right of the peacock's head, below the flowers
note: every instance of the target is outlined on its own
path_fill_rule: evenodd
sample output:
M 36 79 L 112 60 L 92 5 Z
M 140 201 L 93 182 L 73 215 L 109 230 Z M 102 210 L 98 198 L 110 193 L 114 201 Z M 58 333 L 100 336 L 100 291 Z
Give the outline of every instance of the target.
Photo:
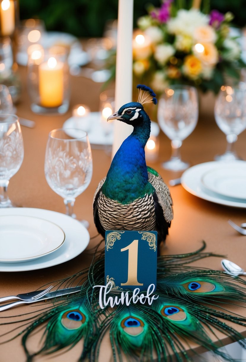
M 171 139 L 171 159 L 162 164 L 164 169 L 183 171 L 189 163 L 181 160 L 182 141 L 195 129 L 198 120 L 198 94 L 194 87 L 173 85 L 159 100 L 158 123 Z

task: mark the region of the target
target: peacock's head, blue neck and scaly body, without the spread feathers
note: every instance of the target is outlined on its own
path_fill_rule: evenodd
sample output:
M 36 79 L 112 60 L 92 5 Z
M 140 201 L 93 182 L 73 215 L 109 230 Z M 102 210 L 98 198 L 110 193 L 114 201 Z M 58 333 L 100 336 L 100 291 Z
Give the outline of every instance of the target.
M 143 105 L 156 104 L 155 93 L 142 84 L 137 89 L 137 102 L 123 105 L 107 119 L 132 125 L 133 132 L 120 146 L 96 189 L 94 222 L 103 237 L 105 230 L 156 230 L 159 245 L 166 239 L 173 218 L 172 198 L 162 177 L 145 161 L 151 122 Z

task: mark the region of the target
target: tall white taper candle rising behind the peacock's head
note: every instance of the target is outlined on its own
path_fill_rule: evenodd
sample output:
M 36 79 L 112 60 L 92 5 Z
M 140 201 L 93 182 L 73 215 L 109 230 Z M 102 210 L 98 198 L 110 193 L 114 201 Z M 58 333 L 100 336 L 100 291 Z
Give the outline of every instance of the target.
M 115 111 L 132 101 L 132 28 L 133 0 L 119 0 L 116 53 Z M 112 158 L 132 132 L 132 126 L 114 122 Z

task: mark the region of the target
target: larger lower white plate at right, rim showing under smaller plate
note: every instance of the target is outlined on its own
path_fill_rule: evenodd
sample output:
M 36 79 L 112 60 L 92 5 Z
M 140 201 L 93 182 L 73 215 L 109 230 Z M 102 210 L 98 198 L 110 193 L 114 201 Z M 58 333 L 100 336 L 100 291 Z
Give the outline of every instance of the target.
M 201 199 L 218 203 L 220 205 L 238 207 L 241 209 L 246 208 L 246 202 L 240 202 L 236 199 L 232 200 L 223 195 L 214 193 L 213 191 L 207 190 L 203 187 L 201 179 L 202 176 L 208 172 L 218 169 L 218 167 L 226 167 L 228 169 L 232 167 L 245 167 L 245 161 L 212 161 L 198 164 L 190 167 L 181 176 L 181 184 L 185 190 L 192 195 L 195 195 Z

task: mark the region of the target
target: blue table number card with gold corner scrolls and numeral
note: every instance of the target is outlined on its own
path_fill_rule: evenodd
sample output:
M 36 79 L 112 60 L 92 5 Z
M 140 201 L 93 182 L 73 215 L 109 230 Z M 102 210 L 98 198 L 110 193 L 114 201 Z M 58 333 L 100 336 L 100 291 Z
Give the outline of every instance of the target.
M 140 291 L 156 286 L 157 232 L 106 231 L 105 285 L 113 282 L 113 289 Z

